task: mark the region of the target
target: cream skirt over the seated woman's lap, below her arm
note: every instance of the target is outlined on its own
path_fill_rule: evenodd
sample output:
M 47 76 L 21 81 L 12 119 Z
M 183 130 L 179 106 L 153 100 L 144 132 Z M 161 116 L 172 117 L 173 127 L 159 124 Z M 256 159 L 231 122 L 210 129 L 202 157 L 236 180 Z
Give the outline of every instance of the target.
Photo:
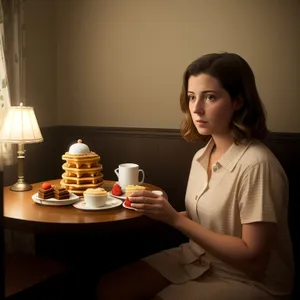
M 190 260 L 182 262 L 181 248 L 168 249 L 143 259 L 171 284 L 153 300 L 274 300 L 264 289 L 226 276 L 210 267 L 209 263 Z M 224 275 L 224 274 L 223 274 Z

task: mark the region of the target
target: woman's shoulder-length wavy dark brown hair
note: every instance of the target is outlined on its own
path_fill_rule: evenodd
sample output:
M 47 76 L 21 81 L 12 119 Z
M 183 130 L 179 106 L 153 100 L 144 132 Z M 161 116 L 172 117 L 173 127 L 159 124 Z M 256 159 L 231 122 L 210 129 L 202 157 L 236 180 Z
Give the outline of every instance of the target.
M 180 95 L 180 106 L 184 113 L 181 134 L 187 141 L 207 140 L 210 136 L 200 135 L 193 124 L 189 110 L 188 80 L 201 73 L 219 80 L 231 99 L 241 97 L 243 106 L 233 114 L 230 131 L 235 143 L 253 138 L 262 140 L 267 133 L 266 112 L 259 97 L 255 77 L 251 67 L 234 53 L 212 53 L 201 56 L 192 62 L 184 72 Z

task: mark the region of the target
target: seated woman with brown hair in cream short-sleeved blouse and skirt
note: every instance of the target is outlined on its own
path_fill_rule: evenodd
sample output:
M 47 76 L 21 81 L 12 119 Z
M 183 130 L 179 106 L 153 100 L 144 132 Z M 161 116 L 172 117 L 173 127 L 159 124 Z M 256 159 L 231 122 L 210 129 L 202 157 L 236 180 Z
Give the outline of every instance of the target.
M 194 156 L 179 213 L 162 196 L 134 193 L 132 207 L 189 237 L 101 279 L 99 299 L 287 299 L 293 283 L 288 181 L 260 140 L 263 104 L 247 62 L 208 54 L 191 63 L 180 98 Z

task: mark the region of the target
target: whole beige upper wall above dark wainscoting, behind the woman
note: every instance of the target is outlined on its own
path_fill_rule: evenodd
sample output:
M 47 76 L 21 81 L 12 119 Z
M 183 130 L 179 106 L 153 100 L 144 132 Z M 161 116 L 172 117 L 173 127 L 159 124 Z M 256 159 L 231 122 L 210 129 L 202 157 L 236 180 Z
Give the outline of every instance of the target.
M 230 51 L 252 66 L 269 128 L 300 132 L 298 0 L 53 0 L 57 18 L 27 1 L 28 95 L 45 123 L 178 128 L 185 67 Z

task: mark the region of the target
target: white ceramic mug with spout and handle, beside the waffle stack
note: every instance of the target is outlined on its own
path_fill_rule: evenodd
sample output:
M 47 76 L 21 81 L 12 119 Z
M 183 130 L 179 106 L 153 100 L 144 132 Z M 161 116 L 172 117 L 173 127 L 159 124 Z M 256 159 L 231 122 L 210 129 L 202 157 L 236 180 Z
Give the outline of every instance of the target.
M 115 169 L 115 173 L 118 176 L 118 183 L 123 191 L 127 185 L 140 185 L 144 183 L 145 172 L 137 164 L 120 164 L 119 168 Z M 139 181 L 140 173 L 142 174 L 142 179 Z

